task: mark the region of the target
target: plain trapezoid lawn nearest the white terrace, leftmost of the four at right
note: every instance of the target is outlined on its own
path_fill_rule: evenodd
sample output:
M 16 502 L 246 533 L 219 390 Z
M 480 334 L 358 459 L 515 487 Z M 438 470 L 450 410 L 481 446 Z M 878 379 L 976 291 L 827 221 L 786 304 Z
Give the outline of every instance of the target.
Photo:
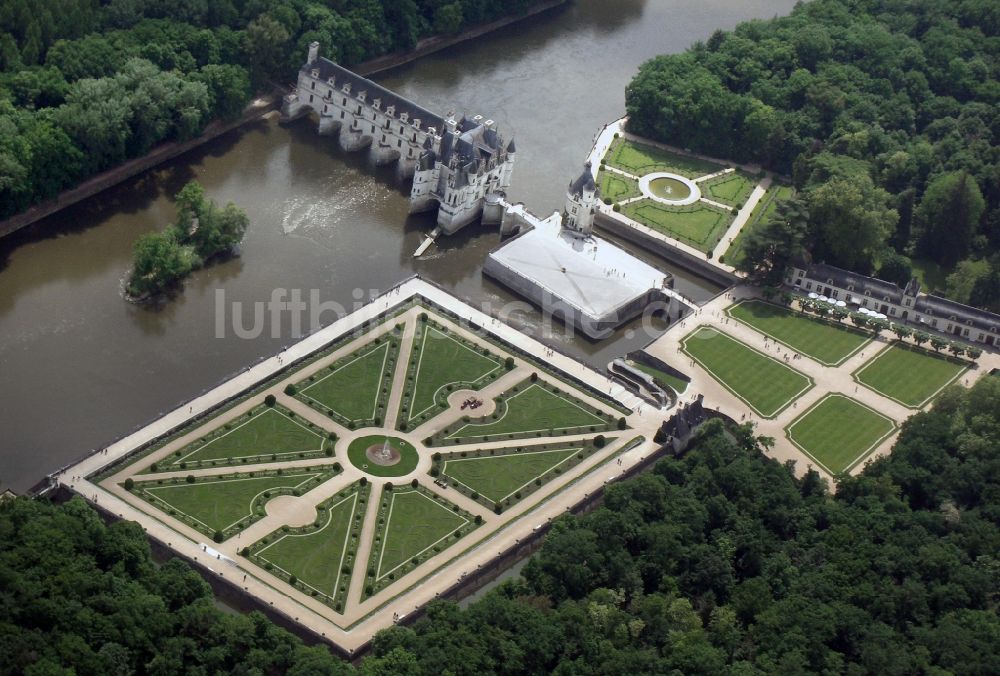
M 700 327 L 681 343 L 723 387 L 765 418 L 778 415 L 813 385 L 795 369 L 715 329 Z

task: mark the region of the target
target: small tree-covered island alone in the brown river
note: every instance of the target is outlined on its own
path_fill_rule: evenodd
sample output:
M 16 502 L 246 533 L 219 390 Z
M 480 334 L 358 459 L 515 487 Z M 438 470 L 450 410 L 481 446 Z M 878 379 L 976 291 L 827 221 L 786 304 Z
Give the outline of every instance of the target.
M 175 199 L 174 223 L 135 243 L 135 262 L 125 287 L 132 300 L 148 300 L 175 289 L 193 270 L 232 253 L 246 232 L 246 213 L 232 202 L 219 207 L 205 197 L 197 181 L 185 185 Z

